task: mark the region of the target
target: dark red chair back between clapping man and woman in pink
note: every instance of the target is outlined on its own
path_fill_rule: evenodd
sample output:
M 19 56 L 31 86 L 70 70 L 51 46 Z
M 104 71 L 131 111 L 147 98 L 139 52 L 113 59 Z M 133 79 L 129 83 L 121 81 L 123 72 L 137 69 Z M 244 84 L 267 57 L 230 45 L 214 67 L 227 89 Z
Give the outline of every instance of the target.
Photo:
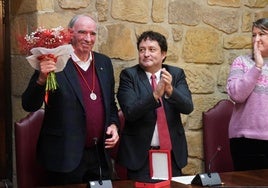
M 206 172 L 233 171 L 228 127 L 234 103 L 220 100 L 213 108 L 203 112 L 203 144 Z M 209 169 L 210 166 L 210 169 Z

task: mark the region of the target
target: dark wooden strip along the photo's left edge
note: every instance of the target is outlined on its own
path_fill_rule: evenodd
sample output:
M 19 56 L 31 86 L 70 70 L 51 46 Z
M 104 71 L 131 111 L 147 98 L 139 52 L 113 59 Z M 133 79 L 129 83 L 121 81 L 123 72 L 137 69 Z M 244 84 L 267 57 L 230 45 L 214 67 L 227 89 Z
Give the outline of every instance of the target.
M 12 119 L 8 0 L 0 0 L 0 181 L 12 179 Z

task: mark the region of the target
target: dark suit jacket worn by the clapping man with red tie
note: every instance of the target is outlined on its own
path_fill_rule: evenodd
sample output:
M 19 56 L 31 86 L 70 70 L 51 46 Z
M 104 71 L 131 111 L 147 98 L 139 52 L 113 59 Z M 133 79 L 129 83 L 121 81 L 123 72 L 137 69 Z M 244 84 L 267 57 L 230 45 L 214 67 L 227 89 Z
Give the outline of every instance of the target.
M 174 88 L 169 99 L 162 98 L 176 161 L 172 165 L 181 169 L 187 164 L 188 151 L 180 114 L 193 111 L 192 97 L 184 71 L 169 65 L 163 67 L 172 75 Z M 121 72 L 117 98 L 126 120 L 118 161 L 128 169 L 138 170 L 148 157 L 156 124 L 155 109 L 160 105 L 154 99 L 150 82 L 139 65 Z

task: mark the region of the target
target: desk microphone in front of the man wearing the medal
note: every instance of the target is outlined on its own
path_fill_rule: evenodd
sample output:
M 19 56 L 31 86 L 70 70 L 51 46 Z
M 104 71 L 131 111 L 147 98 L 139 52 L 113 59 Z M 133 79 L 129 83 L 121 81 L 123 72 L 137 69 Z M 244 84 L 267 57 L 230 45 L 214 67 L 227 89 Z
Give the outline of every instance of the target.
M 90 188 L 112 188 L 112 182 L 111 180 L 102 180 L 102 168 L 101 168 L 101 160 L 100 160 L 100 154 L 99 154 L 99 148 L 98 148 L 98 138 L 93 138 L 94 145 L 96 147 L 96 155 L 98 158 L 98 165 L 99 165 L 99 180 L 98 181 L 90 181 L 89 187 Z

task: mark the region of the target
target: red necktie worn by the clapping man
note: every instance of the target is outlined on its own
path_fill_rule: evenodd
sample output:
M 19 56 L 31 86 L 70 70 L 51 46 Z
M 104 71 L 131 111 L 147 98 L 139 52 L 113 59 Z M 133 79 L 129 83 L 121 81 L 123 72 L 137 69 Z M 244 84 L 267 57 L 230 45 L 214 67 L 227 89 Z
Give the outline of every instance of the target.
M 152 79 L 152 88 L 153 90 L 156 88 L 156 76 L 153 74 L 151 76 Z M 171 150 L 171 141 L 170 141 L 170 135 L 167 125 L 167 119 L 165 114 L 165 109 L 163 106 L 162 99 L 160 98 L 161 106 L 156 109 L 157 113 L 157 128 L 158 128 L 158 135 L 159 135 L 159 143 L 161 149 L 169 149 Z

